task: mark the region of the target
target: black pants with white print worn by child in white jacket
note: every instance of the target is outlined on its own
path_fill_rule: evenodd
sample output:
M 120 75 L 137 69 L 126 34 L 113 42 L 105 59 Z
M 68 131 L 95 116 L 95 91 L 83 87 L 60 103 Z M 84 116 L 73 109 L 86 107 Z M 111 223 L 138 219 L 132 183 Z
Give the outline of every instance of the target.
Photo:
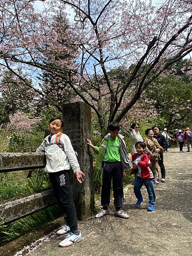
M 69 173 L 68 171 L 49 173 L 49 180 L 52 184 L 55 198 L 61 207 L 61 212 L 64 214 L 66 224 L 73 233 L 77 230 L 77 215 L 73 203 Z

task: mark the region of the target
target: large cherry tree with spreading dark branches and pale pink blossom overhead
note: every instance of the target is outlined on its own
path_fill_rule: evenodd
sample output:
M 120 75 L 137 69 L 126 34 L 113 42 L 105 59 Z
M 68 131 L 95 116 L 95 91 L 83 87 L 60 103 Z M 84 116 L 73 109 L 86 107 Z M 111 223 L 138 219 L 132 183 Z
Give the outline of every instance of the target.
M 76 100 L 95 111 L 102 134 L 108 122 L 130 113 L 161 73 L 192 51 L 191 0 L 155 5 L 150 0 L 41 0 L 41 11 L 34 2 L 0 0 L 1 67 L 45 101 L 54 101 L 49 90 L 56 95 L 71 88 Z M 128 70 L 123 83 L 109 75 L 117 67 Z M 44 72 L 55 88 L 35 79 Z

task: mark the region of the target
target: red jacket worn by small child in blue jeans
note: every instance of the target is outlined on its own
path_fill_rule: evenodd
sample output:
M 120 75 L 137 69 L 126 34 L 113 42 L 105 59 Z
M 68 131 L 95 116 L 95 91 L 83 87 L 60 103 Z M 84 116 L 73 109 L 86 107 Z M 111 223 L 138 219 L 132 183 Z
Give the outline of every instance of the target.
M 137 157 L 139 156 L 137 153 L 131 154 L 132 156 L 132 161 L 136 160 Z M 136 163 L 137 167 L 141 169 L 141 179 L 145 180 L 145 179 L 151 179 L 153 178 L 153 173 L 150 169 L 150 156 L 148 156 L 148 154 L 143 153 L 143 155 L 141 156 L 141 161 L 138 161 Z M 135 170 L 132 168 L 131 169 L 131 174 L 134 174 Z

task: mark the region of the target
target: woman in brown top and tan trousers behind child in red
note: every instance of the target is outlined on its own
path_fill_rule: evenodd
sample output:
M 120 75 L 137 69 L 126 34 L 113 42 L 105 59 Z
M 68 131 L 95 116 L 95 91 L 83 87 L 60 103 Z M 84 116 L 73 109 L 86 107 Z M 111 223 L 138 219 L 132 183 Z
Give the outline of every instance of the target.
M 143 142 L 146 145 L 145 152 L 150 155 L 150 161 L 151 161 L 151 169 L 154 174 L 154 184 L 159 184 L 158 177 L 159 177 L 159 171 L 158 171 L 158 154 L 160 152 L 161 146 L 157 142 L 156 139 L 154 139 L 154 133 L 151 128 L 148 128 L 145 131 L 145 134 L 147 137 L 143 139 Z

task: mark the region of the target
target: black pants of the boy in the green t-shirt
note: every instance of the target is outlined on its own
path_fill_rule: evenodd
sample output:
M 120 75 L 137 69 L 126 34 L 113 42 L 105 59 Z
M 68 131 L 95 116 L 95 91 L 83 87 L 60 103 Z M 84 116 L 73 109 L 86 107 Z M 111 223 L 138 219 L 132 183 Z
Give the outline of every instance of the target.
M 101 204 L 108 207 L 111 194 L 111 180 L 113 180 L 114 206 L 123 206 L 123 169 L 121 162 L 105 162 L 103 167 L 103 182 Z

